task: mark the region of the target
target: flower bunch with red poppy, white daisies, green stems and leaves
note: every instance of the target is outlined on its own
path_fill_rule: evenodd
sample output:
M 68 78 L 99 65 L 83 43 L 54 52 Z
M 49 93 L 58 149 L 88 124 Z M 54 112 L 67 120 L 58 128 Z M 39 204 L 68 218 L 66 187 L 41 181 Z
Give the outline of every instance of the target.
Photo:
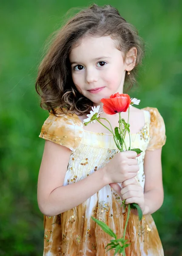
M 103 111 L 106 114 L 109 115 L 114 115 L 116 113 L 119 113 L 119 127 L 115 127 L 114 131 L 111 126 L 111 123 L 108 121 L 106 118 L 100 117 L 101 109 L 100 106 L 97 106 L 97 108 L 94 106 L 92 107 L 92 111 L 90 114 L 88 114 L 88 118 L 83 120 L 84 125 L 88 125 L 88 123 L 92 122 L 99 122 L 101 125 L 103 125 L 108 131 L 113 134 L 114 142 L 116 143 L 117 148 L 119 151 L 125 151 L 125 150 L 132 150 L 137 152 L 137 154 L 141 153 L 142 151 L 139 148 L 131 148 L 131 137 L 130 137 L 130 125 L 129 125 L 129 113 L 130 113 L 130 108 L 132 105 L 139 105 L 140 100 L 136 98 L 130 98 L 128 94 L 119 94 L 115 93 L 114 95 L 111 95 L 109 99 L 101 99 L 101 102 L 103 103 Z M 125 122 L 125 119 L 121 118 L 121 112 L 126 112 L 128 110 L 128 122 Z M 109 128 L 106 127 L 102 122 L 101 119 L 104 119 L 108 122 Z M 125 136 L 126 133 L 129 134 L 129 146 L 126 145 L 125 143 Z M 111 240 L 111 243 L 107 244 L 105 249 L 107 247 L 108 250 L 115 250 L 114 255 L 117 253 L 122 253 L 122 255 L 125 255 L 125 248 L 128 247 L 130 244 L 128 244 L 128 240 L 125 240 L 125 233 L 126 233 L 126 227 L 128 224 L 128 219 L 130 215 L 130 210 L 131 209 L 137 209 L 138 215 L 139 215 L 139 220 L 142 220 L 142 210 L 140 209 L 138 204 L 125 204 L 125 200 L 122 201 L 122 206 L 125 208 L 128 206 L 128 215 L 127 219 L 125 222 L 125 228 L 123 232 L 123 237 L 117 239 L 117 235 L 102 221 L 95 219 L 94 217 L 91 217 L 100 227 L 102 230 L 105 231 L 105 233 L 108 233 L 111 237 L 114 237 L 113 240 Z M 107 251 L 108 251 L 107 250 Z

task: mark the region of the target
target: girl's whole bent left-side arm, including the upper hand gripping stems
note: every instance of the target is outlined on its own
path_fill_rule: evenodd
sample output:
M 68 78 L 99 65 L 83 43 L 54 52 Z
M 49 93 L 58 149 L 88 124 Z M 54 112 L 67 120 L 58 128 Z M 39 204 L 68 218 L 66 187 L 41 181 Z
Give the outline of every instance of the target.
M 46 140 L 40 166 L 37 199 L 40 211 L 54 216 L 82 204 L 107 184 L 121 183 L 137 175 L 137 153 L 119 152 L 97 172 L 84 179 L 63 186 L 71 150 Z

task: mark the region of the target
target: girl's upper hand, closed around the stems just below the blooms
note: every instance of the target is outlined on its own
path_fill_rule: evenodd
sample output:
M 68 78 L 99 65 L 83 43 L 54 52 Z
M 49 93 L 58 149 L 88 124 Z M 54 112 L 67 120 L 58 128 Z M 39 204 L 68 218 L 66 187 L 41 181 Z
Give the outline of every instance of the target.
M 110 183 L 122 183 L 137 175 L 139 171 L 137 153 L 135 151 L 124 151 L 116 154 L 104 167 L 105 177 Z

